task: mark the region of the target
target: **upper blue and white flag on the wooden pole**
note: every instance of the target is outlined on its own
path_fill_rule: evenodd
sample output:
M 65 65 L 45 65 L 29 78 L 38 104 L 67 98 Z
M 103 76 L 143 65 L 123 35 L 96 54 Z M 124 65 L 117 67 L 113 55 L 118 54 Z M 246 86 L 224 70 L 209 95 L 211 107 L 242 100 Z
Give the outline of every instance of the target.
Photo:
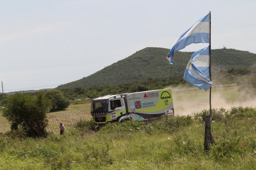
M 179 36 L 173 43 L 173 47 L 167 54 L 167 60 L 173 64 L 173 54 L 192 43 L 209 43 L 210 37 L 210 13 L 197 21 L 190 29 Z

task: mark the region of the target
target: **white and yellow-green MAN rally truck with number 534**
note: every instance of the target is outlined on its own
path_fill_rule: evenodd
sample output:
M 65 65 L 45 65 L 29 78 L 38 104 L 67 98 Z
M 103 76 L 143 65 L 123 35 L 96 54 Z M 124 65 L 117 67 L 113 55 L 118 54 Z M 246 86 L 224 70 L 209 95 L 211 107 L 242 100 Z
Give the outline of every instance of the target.
M 106 95 L 91 101 L 91 116 L 96 126 L 124 120 L 145 123 L 174 116 L 171 89 Z

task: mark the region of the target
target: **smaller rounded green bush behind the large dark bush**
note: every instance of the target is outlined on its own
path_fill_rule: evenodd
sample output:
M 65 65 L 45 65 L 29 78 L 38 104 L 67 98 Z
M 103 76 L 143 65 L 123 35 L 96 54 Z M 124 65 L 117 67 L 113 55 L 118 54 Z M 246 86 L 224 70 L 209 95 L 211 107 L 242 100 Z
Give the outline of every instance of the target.
M 45 92 L 45 97 L 51 100 L 50 111 L 64 110 L 69 106 L 69 101 L 59 90 L 48 90 Z

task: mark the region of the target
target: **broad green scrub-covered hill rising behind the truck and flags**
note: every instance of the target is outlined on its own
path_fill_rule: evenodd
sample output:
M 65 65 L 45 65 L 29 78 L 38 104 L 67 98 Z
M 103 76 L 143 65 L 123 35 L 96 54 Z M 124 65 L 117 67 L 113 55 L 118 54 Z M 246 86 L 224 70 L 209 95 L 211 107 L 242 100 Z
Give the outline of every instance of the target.
M 56 89 L 94 86 L 112 86 L 121 83 L 144 81 L 182 75 L 193 52 L 175 52 L 175 64 L 168 64 L 170 49 L 147 47 L 127 58 L 113 63 L 80 80 L 58 86 Z M 243 69 L 255 64 L 256 54 L 236 49 L 211 50 L 211 70 Z

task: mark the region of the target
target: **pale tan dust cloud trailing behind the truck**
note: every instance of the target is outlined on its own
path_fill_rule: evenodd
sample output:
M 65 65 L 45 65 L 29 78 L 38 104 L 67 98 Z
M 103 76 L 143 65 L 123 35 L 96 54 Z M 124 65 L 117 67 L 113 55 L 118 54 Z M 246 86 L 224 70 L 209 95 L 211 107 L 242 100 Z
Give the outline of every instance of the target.
M 181 88 L 167 87 L 172 89 L 173 107 L 175 115 L 190 115 L 193 112 L 209 110 L 210 90 L 200 90 L 196 87 Z M 236 85 L 213 87 L 211 89 L 211 108 L 231 109 L 232 107 L 255 107 L 256 97 L 238 90 Z

